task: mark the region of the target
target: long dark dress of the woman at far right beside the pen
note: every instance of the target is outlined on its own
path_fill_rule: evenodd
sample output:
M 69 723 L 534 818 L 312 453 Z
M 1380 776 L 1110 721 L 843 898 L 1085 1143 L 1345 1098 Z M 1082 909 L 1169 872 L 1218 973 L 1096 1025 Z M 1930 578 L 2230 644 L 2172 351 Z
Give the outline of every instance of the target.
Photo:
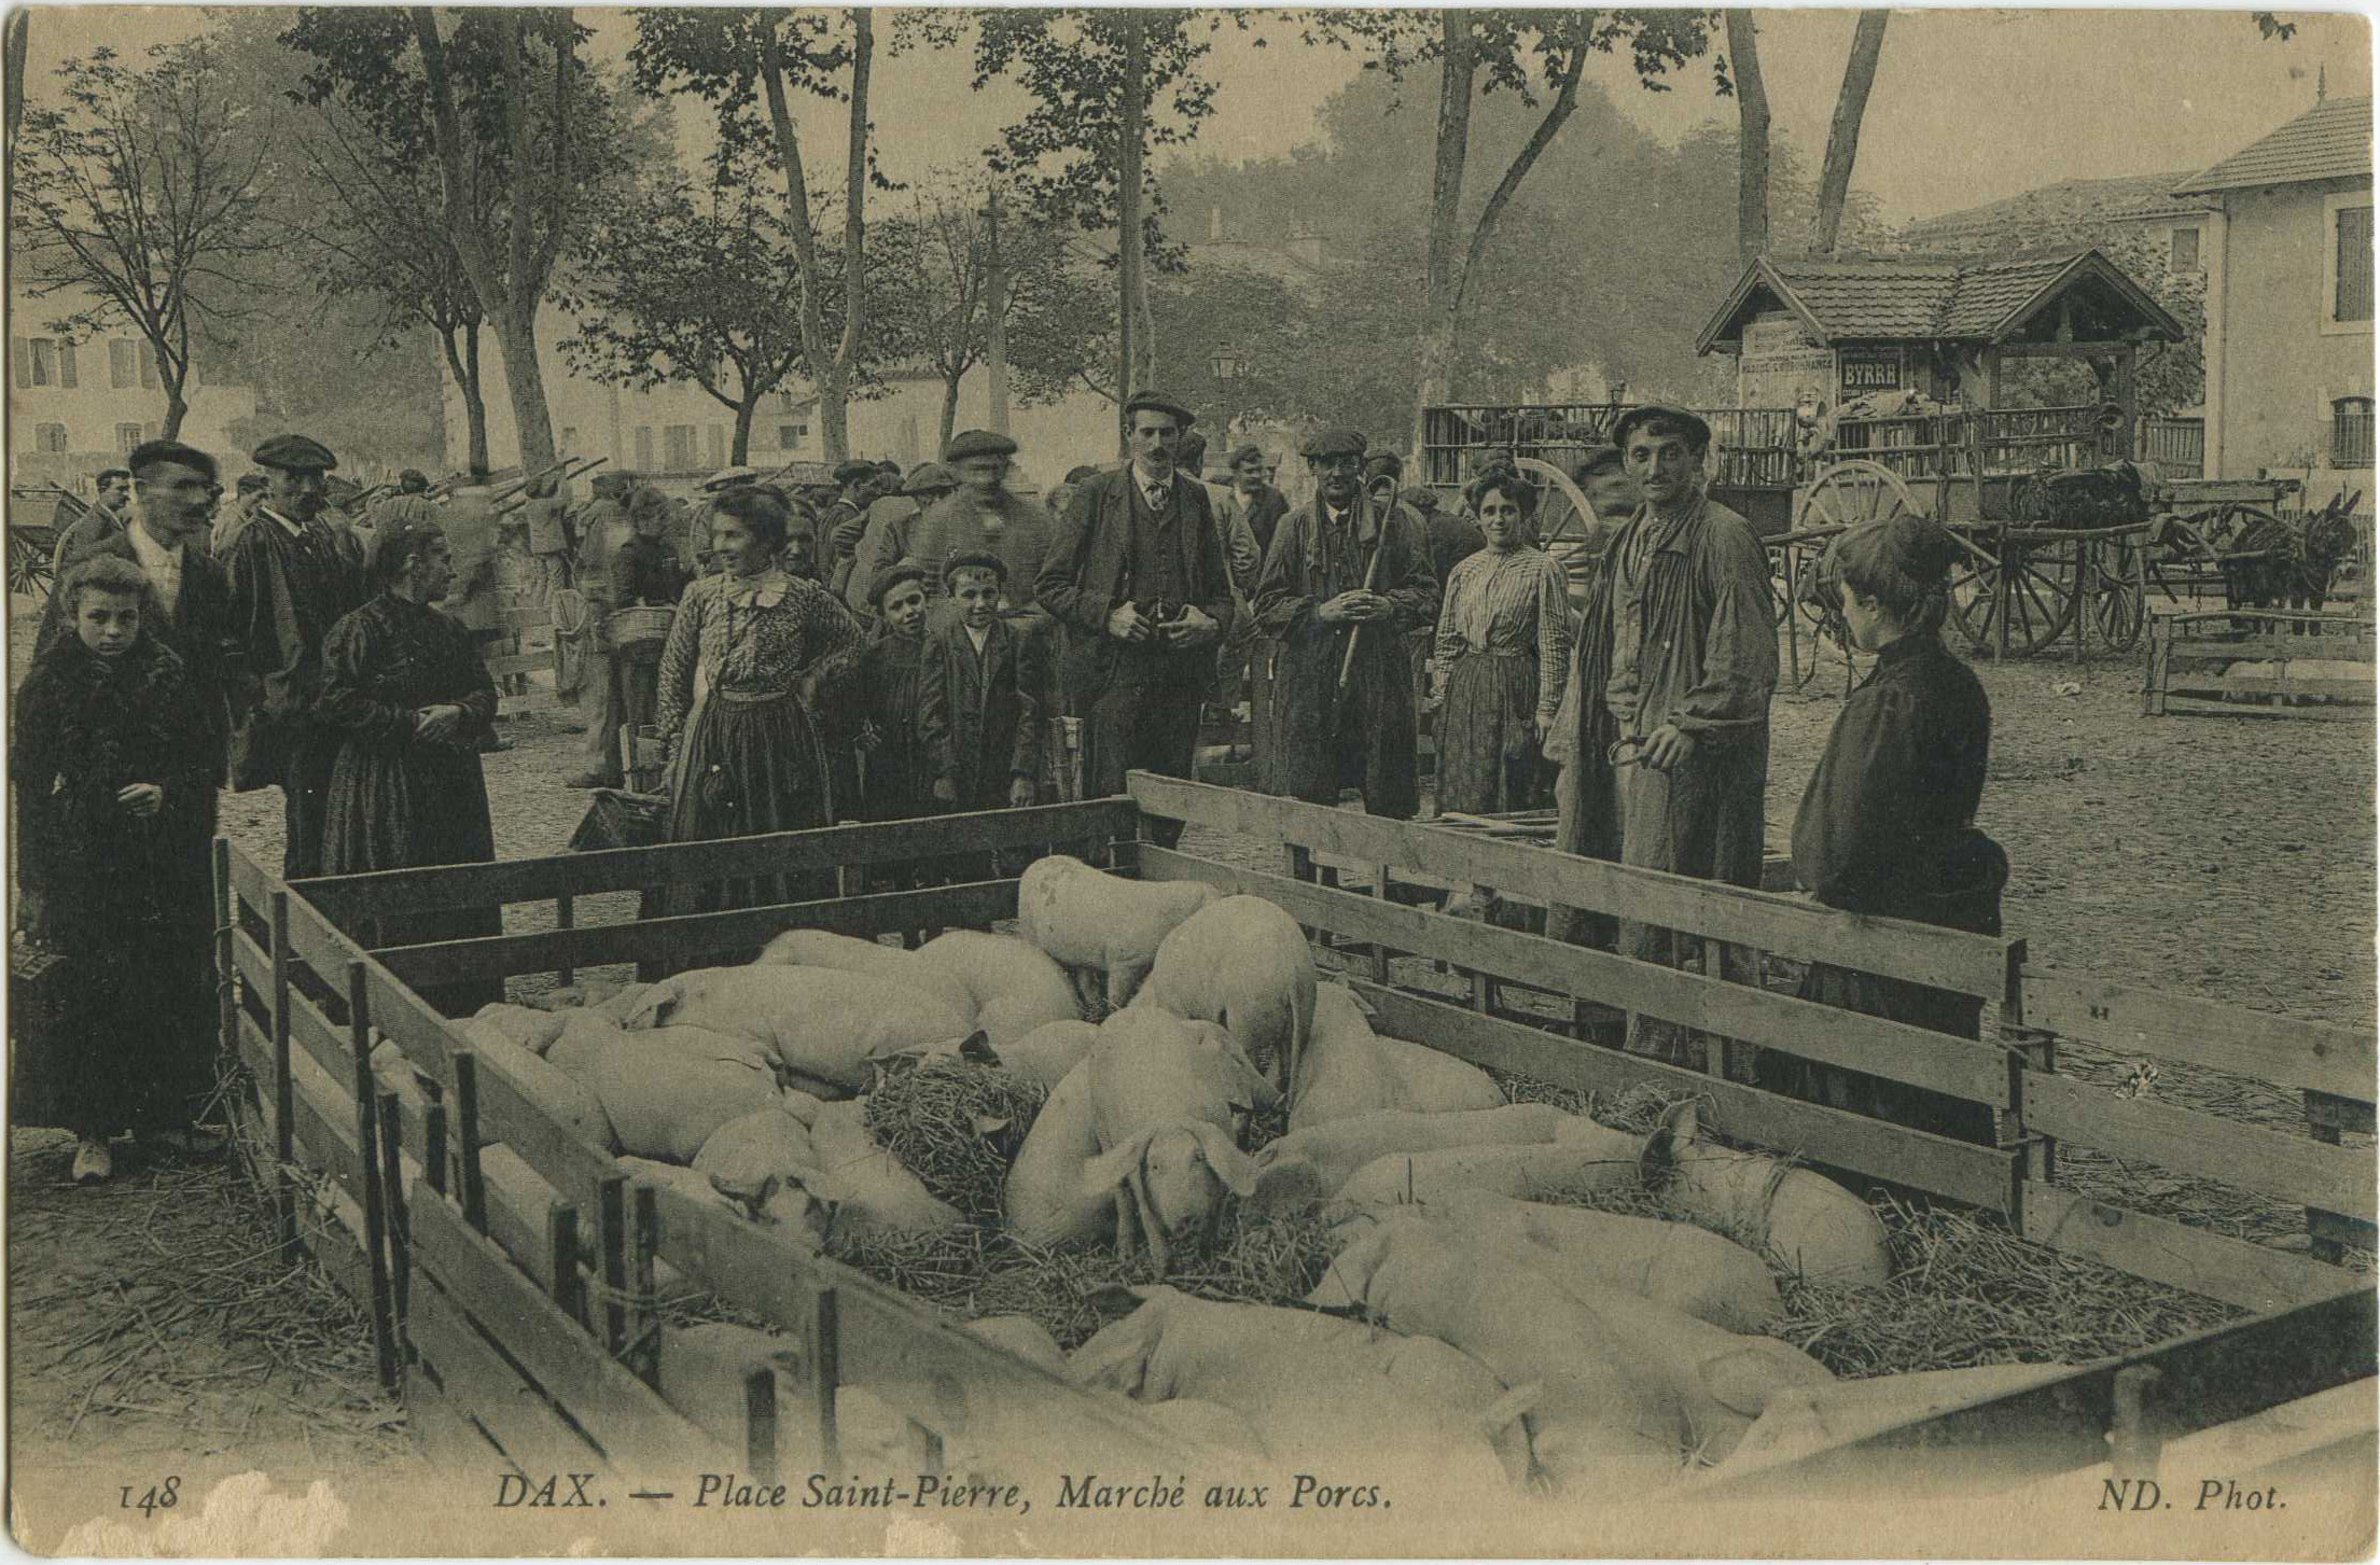
M 2009 859 L 1975 830 L 1992 749 L 1983 680 L 1940 635 L 1885 647 L 1835 718 L 1792 828 L 1795 875 L 1821 904 L 1999 932 Z M 1949 989 L 1814 963 L 1802 999 L 1978 1037 L 1983 1001 Z M 1992 1113 L 1859 1070 L 1761 1056 L 1761 1082 L 1835 1108 L 1964 1142 L 1992 1139 Z

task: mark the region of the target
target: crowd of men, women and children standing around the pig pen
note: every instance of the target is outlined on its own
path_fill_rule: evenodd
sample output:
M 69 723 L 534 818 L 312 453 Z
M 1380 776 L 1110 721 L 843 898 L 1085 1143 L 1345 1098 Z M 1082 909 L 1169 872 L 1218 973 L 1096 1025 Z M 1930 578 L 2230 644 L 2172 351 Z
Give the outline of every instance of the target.
M 1566 851 L 1759 885 L 1768 561 L 1706 495 L 1697 414 L 1628 411 L 1571 476 L 1592 514 L 1561 502 L 1559 552 L 1537 535 L 1540 490 L 1507 466 L 1442 507 L 1402 488 L 1397 454 L 1326 428 L 1299 447 L 1314 492 L 1292 504 L 1254 445 L 1209 483 L 1173 400 L 1142 392 L 1123 414 L 1126 459 L 1073 469 L 1047 504 L 1009 488 L 1009 435 L 966 430 L 907 473 L 854 459 L 795 490 L 728 469 L 688 504 L 605 476 L 571 507 L 538 476 L 509 523 L 440 502 L 419 473 L 359 523 L 331 516 L 338 461 L 305 435 L 257 447 L 228 509 L 209 454 L 138 447 L 60 545 L 19 699 L 19 928 L 83 966 L 43 1054 L 64 1063 L 17 1120 L 33 1101 L 48 1118 L 31 1123 L 71 1130 L 76 1180 L 109 1177 L 119 1132 L 207 1142 L 193 1125 L 212 1075 L 219 787 L 281 790 L 286 880 L 493 859 L 483 645 L 502 621 L 457 604 L 493 597 L 505 526 L 533 590 L 583 604 L 557 611 L 557 687 L 585 723 L 569 783 L 631 783 L 650 747 L 676 842 L 1026 806 L 1059 761 L 1085 794 L 1130 771 L 1185 778 L 1202 718 L 1252 699 L 1266 792 L 1352 790 L 1411 818 L 1418 716 L 1435 709 L 1440 811 L 1549 806 Z M 1880 656 L 1811 780 L 1795 859 L 1830 906 L 1992 930 L 2006 863 L 1973 828 L 1990 709 L 1937 635 L 1949 554 L 1923 521 L 1830 554 L 1849 630 Z M 819 875 L 747 878 L 659 890 L 645 913 L 826 894 Z M 402 928 L 381 942 L 497 932 L 493 909 L 388 923 Z M 1554 909 L 1545 932 L 1706 961 L 1659 925 Z M 129 982 L 133 968 L 155 978 Z M 428 999 L 466 1013 L 481 989 Z M 1823 966 L 1806 994 L 1978 1027 L 1971 1004 Z M 1716 1042 L 1637 1016 L 1626 1047 L 1704 1068 Z M 1721 1068 L 1990 1135 L 1852 1073 L 1783 1073 L 1733 1044 Z

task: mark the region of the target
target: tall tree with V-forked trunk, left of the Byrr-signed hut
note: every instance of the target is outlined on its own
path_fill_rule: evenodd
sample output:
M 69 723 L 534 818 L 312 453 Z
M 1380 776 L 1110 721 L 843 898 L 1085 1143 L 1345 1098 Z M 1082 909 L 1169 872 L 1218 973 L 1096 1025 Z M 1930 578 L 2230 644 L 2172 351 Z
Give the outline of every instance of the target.
M 1587 55 L 1628 45 L 1637 81 L 1666 90 L 1661 76 L 1709 48 L 1706 12 L 1590 12 L 1590 10 L 1438 10 L 1438 12 L 1316 12 L 1311 36 L 1366 48 L 1390 78 L 1423 62 L 1438 67 L 1438 138 L 1430 159 L 1426 335 L 1418 407 L 1447 400 L 1471 293 L 1483 257 L 1514 195 L 1561 126 L 1578 109 Z M 1535 107 L 1549 102 L 1535 131 L 1511 155 L 1504 174 L 1473 209 L 1464 200 L 1471 162 L 1471 114 L 1480 93 L 1509 90 Z M 1468 231 L 1468 233 L 1466 233 Z M 1414 447 L 1421 447 L 1421 414 Z

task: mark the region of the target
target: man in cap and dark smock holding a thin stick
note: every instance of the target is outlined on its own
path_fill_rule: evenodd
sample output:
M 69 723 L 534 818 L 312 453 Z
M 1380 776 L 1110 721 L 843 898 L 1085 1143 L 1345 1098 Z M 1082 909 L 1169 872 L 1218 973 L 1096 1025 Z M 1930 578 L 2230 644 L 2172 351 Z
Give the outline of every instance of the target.
M 1321 430 L 1299 454 L 1314 499 L 1280 518 L 1257 580 L 1257 621 L 1278 645 L 1257 735 L 1266 790 L 1338 804 L 1354 787 L 1368 813 L 1409 821 L 1421 785 L 1407 635 L 1438 623 L 1421 518 L 1364 492 L 1364 435 Z

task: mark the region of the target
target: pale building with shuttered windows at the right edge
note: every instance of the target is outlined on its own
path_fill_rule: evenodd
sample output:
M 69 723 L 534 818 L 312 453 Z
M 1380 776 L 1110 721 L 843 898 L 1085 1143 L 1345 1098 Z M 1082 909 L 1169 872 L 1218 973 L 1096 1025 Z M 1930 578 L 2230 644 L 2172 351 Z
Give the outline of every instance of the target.
M 2209 243 L 2206 471 L 2373 502 L 2373 100 L 2330 98 L 2182 181 Z

